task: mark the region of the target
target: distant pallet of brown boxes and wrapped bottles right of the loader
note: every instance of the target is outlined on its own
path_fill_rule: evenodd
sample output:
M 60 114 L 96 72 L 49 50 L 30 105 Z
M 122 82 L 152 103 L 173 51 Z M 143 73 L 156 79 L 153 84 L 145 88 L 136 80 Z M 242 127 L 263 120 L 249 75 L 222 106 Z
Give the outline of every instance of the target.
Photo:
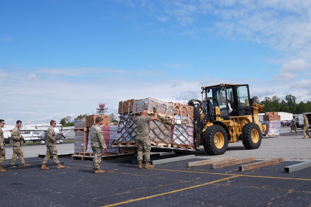
M 266 125 L 266 136 L 279 136 L 281 132 L 281 117 L 278 112 L 266 112 L 263 122 Z

